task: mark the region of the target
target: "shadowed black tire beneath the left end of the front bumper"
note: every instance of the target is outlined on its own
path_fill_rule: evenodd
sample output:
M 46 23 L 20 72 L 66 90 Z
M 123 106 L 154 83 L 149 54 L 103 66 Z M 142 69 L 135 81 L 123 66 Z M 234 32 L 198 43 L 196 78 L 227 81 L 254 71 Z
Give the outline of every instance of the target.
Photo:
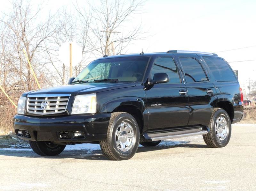
M 50 141 L 29 141 L 32 150 L 41 156 L 56 156 L 60 154 L 66 145 L 54 144 Z

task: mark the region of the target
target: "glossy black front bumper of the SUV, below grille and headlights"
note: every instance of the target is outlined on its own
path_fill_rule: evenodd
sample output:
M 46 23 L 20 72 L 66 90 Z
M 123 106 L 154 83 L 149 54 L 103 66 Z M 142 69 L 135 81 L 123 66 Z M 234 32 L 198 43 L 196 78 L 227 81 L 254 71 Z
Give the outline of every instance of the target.
M 24 140 L 57 143 L 95 142 L 106 139 L 110 115 L 101 113 L 36 117 L 17 114 L 13 117 L 13 126 L 15 134 Z M 22 135 L 18 134 L 18 131 L 22 132 Z M 63 132 L 68 136 L 63 137 Z M 84 136 L 75 137 L 74 132 L 83 132 Z

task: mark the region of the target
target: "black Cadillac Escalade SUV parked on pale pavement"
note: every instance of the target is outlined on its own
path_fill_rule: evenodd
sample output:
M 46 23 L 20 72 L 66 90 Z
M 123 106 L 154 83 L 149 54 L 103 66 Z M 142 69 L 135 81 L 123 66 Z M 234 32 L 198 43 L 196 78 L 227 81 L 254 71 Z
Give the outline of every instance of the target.
M 16 135 L 39 155 L 67 144 L 99 143 L 112 160 L 131 158 L 139 143 L 203 135 L 224 147 L 243 117 L 240 85 L 216 54 L 171 50 L 104 56 L 68 85 L 23 93 Z

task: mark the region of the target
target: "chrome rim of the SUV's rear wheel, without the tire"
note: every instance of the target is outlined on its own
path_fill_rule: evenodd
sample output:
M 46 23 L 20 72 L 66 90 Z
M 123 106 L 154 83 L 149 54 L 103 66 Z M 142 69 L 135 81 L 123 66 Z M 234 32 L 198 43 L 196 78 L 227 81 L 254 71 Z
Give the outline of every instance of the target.
M 228 123 L 226 119 L 220 116 L 215 123 L 215 132 L 220 141 L 223 141 L 229 132 Z

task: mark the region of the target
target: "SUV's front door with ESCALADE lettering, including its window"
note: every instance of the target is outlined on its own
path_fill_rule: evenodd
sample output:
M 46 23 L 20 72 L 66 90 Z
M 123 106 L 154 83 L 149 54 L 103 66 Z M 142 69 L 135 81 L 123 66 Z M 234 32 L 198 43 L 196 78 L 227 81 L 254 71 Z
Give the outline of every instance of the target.
M 164 84 L 155 84 L 145 91 L 146 107 L 149 113 L 149 130 L 186 126 L 188 124 L 187 91 L 172 57 L 156 58 L 149 79 L 152 79 L 155 73 L 162 72 L 168 74 L 170 81 Z

